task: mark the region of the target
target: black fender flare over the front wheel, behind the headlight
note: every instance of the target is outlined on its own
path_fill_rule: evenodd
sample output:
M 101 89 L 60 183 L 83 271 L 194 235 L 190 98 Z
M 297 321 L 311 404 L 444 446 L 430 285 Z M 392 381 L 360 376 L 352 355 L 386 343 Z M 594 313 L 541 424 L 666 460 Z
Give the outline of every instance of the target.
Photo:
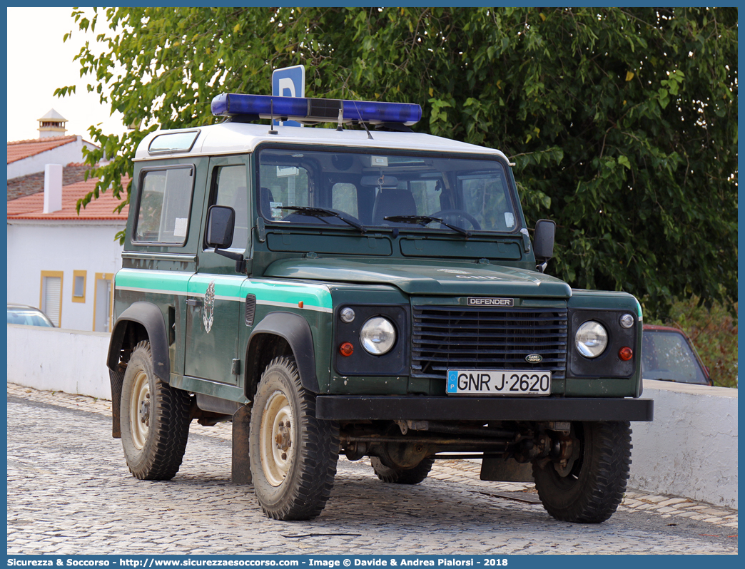
M 316 375 L 316 355 L 313 347 L 313 332 L 308 321 L 293 312 L 271 312 L 254 326 L 248 338 L 247 354 L 251 353 L 251 344 L 259 334 L 273 334 L 284 338 L 297 363 L 302 387 L 319 393 Z

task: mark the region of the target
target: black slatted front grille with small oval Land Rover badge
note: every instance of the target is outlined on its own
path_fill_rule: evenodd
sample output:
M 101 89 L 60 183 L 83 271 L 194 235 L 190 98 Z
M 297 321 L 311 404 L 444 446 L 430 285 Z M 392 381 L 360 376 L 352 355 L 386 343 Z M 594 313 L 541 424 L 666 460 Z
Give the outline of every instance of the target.
M 414 306 L 411 375 L 446 378 L 448 369 L 536 369 L 565 378 L 567 311 L 545 308 Z M 540 354 L 540 363 L 525 356 Z

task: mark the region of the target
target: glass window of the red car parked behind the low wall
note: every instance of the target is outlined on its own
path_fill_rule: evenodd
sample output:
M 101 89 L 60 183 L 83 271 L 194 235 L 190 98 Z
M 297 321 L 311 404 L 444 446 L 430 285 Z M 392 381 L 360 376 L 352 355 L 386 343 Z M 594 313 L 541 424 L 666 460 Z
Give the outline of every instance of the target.
M 641 377 L 685 384 L 708 384 L 682 334 L 644 330 L 641 338 Z

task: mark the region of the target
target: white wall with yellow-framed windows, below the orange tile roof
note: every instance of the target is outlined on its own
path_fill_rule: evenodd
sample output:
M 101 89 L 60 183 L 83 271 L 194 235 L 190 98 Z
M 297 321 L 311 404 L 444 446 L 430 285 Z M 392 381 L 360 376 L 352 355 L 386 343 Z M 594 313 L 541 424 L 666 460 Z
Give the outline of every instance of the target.
M 93 330 L 95 273 L 121 268 L 114 235 L 124 223 L 11 221 L 7 226 L 7 302 L 39 307 L 41 272 L 63 271 L 60 328 Z M 73 271 L 86 271 L 85 302 L 73 302 Z M 56 322 L 55 322 L 56 325 Z

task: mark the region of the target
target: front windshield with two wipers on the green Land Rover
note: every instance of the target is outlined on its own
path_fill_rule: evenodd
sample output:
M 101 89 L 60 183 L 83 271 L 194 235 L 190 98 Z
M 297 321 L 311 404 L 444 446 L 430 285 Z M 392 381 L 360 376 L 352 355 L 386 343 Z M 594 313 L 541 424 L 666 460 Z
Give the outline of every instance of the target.
M 264 148 L 259 188 L 270 221 L 469 234 L 519 229 L 507 171 L 492 158 Z

